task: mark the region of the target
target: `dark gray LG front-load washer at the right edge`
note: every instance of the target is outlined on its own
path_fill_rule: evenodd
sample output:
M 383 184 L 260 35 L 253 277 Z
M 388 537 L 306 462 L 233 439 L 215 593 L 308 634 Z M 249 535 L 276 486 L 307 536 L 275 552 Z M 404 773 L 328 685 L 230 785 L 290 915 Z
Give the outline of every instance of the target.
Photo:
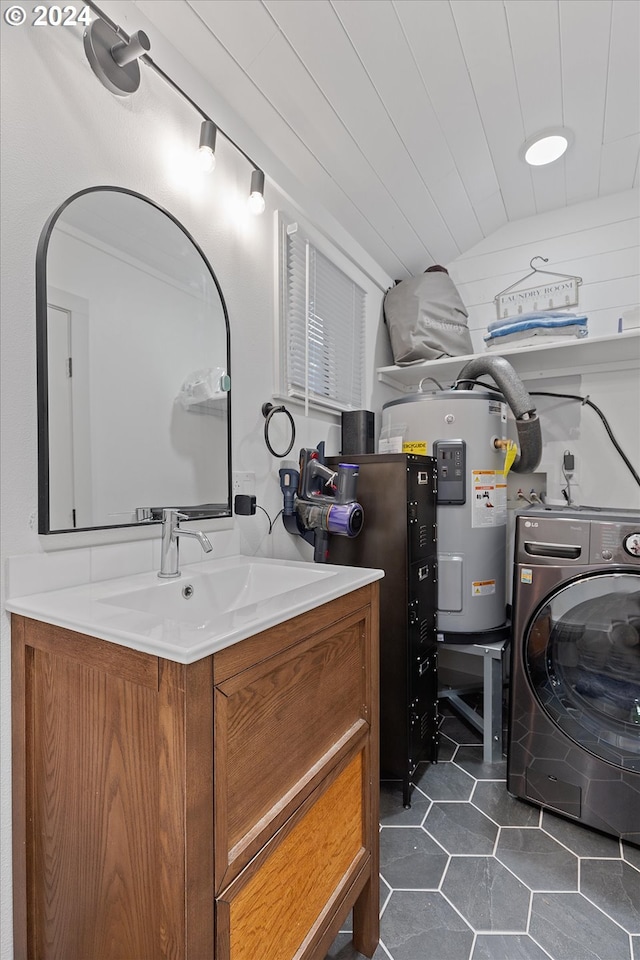
M 516 518 L 507 789 L 640 845 L 640 511 Z

